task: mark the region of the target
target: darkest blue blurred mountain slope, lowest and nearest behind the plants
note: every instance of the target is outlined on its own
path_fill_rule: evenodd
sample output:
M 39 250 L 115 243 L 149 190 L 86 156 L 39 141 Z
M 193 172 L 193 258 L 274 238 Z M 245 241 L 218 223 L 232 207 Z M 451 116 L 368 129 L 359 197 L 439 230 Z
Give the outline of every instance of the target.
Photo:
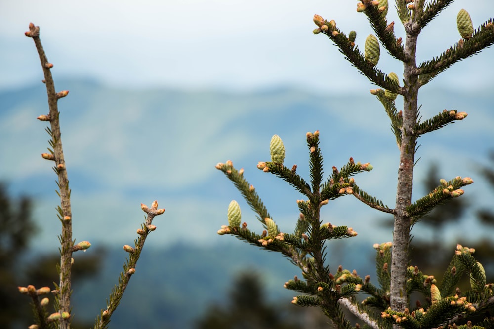
M 372 246 L 350 241 L 354 239 L 345 240 L 328 244 L 328 260 L 333 264 L 333 270 L 343 264 L 350 270 L 357 269 L 359 274 L 371 274 L 375 279 Z M 348 253 L 345 258 L 341 248 Z M 90 252 L 89 249 L 87 253 Z M 72 287 L 74 315 L 78 319 L 91 320 L 106 306 L 105 300 L 117 283 L 125 256 L 121 248 L 108 249 L 98 278 Z M 297 292 L 284 289 L 283 284 L 294 275 L 300 277 L 301 273 L 277 253 L 239 241 L 209 248 L 174 245 L 161 250 L 144 247 L 136 273 L 112 317 L 110 328 L 193 328 L 194 321 L 208 310 L 208 306 L 228 300 L 235 277 L 245 272 L 259 278 L 266 303 L 279 303 L 277 307 L 285 311 L 295 307 L 290 302 Z

